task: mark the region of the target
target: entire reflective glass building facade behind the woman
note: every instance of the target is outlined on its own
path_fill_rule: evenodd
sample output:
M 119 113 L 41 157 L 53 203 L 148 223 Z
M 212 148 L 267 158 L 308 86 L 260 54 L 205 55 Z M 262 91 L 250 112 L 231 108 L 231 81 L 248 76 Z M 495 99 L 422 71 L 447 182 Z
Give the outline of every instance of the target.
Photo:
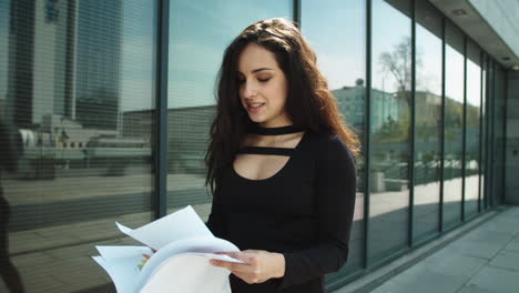
M 506 70 L 426 0 L 0 2 L 0 292 L 106 292 L 95 245 L 191 204 L 223 50 L 299 23 L 362 140 L 337 289 L 503 202 Z M 0 138 L 0 150 L 7 150 Z M 12 159 L 12 158 L 11 158 Z M 17 276 L 18 275 L 18 276 Z

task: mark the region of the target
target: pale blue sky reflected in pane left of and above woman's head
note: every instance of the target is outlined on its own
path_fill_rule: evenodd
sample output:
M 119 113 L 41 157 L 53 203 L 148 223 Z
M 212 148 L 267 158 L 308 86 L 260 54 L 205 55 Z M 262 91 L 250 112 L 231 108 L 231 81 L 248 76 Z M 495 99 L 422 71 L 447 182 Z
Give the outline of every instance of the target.
M 172 1 L 169 108 L 215 104 L 214 84 L 225 48 L 247 26 L 292 18 L 289 0 Z

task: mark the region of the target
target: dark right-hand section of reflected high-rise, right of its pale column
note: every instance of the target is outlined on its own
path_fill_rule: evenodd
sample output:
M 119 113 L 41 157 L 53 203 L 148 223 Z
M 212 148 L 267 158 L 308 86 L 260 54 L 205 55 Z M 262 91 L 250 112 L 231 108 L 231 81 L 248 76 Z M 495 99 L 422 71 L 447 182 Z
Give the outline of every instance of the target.
M 118 129 L 121 0 L 78 2 L 75 119 L 85 128 Z

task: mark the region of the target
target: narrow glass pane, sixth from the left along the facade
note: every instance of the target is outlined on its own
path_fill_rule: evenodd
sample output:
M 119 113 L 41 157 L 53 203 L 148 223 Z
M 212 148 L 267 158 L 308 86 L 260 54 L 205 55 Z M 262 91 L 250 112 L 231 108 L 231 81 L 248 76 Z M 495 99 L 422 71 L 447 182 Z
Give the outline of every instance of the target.
M 444 228 L 446 229 L 461 221 L 464 63 L 464 37 L 452 24 L 447 23 L 444 129 Z

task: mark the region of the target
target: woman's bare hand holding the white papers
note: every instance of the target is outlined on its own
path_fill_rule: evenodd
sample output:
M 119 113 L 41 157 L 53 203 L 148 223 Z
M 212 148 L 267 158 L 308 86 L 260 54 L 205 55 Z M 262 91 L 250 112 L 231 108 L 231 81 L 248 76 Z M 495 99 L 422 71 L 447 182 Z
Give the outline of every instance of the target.
M 211 260 L 214 266 L 230 270 L 234 275 L 248 284 L 263 283 L 273 277 L 285 275 L 285 256 L 281 253 L 246 250 L 242 252 L 222 252 L 233 259 L 245 263 L 232 263 L 218 260 Z

